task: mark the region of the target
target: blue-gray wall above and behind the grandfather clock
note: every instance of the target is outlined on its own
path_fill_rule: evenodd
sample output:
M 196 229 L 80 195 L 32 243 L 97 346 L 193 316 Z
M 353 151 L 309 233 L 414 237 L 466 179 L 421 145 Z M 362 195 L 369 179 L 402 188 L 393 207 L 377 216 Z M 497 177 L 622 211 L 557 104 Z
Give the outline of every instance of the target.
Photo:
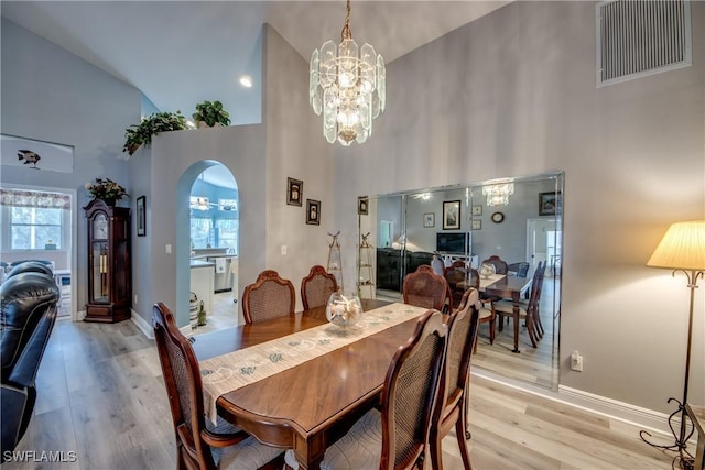
M 74 172 L 2 166 L 3 184 L 75 190 L 78 310 L 88 300 L 85 184 L 109 177 L 133 194 L 122 155 L 124 129 L 140 121 L 141 94 L 53 43 L 2 19 L 2 133 L 74 145 Z M 124 205 L 134 206 L 133 199 Z

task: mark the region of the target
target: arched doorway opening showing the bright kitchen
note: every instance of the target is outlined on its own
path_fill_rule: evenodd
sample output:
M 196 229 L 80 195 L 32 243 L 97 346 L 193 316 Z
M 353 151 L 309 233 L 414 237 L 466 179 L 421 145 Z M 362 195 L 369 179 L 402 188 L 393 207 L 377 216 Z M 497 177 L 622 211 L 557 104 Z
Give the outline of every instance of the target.
M 238 324 L 239 193 L 221 163 L 206 163 L 188 198 L 189 321 L 193 334 Z M 198 313 L 206 313 L 205 324 Z

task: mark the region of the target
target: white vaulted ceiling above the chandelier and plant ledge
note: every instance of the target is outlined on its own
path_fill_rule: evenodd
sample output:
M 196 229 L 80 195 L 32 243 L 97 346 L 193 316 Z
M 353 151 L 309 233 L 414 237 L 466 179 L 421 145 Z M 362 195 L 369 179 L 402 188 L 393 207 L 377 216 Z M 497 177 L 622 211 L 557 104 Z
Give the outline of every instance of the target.
M 350 26 L 386 62 L 409 53 L 509 1 L 352 1 Z M 220 100 L 234 123 L 260 90 L 261 25 L 270 23 L 306 61 L 339 41 L 345 1 L 1 1 L 2 17 L 133 85 L 162 111 L 187 118 L 203 100 Z M 258 116 L 259 117 L 259 116 Z

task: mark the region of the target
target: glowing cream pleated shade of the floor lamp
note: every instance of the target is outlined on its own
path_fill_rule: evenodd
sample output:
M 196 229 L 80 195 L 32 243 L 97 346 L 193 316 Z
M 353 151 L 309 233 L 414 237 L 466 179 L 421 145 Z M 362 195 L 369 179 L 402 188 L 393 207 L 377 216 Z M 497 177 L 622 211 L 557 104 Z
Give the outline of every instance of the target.
M 676 222 L 669 227 L 647 266 L 705 270 L 705 220 Z

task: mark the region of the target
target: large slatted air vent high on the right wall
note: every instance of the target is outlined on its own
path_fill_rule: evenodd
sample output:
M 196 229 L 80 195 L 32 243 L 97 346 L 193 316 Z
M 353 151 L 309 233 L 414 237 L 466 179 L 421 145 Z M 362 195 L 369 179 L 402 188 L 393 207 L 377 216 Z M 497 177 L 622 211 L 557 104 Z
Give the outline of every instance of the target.
M 597 86 L 692 65 L 691 3 L 597 4 Z

